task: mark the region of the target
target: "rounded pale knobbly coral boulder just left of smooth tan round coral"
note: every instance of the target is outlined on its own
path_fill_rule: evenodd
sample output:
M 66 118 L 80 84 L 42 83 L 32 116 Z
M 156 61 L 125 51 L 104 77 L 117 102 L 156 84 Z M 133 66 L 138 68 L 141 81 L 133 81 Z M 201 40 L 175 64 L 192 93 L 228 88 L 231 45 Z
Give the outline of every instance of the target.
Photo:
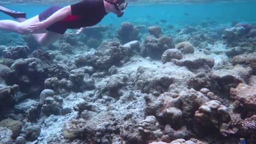
M 162 54 L 162 64 L 171 62 L 172 59 L 182 59 L 182 51 L 178 49 L 168 49 Z

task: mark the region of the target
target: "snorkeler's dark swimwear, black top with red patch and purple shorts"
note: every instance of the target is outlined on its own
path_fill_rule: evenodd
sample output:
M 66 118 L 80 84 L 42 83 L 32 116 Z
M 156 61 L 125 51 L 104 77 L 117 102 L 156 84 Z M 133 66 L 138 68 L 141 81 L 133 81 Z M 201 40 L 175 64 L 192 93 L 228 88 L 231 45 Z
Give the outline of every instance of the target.
M 62 7 L 53 5 L 39 14 L 39 20 L 44 21 Z M 71 5 L 71 15 L 55 22 L 46 28 L 47 31 L 63 34 L 68 28 L 94 26 L 107 15 L 103 0 L 84 0 Z

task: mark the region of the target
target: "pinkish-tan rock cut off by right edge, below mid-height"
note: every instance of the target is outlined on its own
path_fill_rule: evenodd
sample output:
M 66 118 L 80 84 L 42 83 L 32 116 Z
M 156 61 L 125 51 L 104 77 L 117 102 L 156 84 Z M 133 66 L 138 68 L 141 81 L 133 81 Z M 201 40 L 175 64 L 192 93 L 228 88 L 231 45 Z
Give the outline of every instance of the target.
M 247 110 L 256 110 L 256 85 L 248 86 L 245 83 L 239 83 L 236 88 L 230 88 L 230 95 L 240 101 Z

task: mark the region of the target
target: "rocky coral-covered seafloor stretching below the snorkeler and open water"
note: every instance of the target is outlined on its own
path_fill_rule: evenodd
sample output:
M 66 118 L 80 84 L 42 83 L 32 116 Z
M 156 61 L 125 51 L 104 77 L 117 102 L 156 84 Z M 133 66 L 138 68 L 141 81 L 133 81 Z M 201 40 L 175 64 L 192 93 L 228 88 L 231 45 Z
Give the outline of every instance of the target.
M 0 143 L 256 143 L 255 27 L 209 23 L 1 34 Z

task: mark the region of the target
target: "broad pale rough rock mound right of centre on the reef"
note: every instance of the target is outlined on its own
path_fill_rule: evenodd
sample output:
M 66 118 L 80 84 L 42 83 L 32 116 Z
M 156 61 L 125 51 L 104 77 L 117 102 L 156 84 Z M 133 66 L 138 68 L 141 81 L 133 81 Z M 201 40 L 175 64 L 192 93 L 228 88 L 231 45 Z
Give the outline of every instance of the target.
M 194 74 L 187 68 L 178 67 L 172 63 L 166 63 L 158 68 L 139 67 L 135 88 L 156 95 L 166 91 L 179 92 L 190 86 L 193 76 Z

